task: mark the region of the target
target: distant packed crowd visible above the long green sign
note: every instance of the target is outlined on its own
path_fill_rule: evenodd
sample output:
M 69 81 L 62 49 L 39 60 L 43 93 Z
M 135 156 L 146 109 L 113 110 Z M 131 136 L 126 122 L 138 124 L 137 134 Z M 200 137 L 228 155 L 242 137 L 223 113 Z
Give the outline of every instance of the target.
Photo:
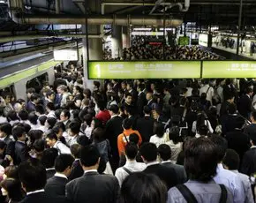
M 104 60 L 220 60 L 221 56 L 202 49 L 200 46 L 169 46 L 150 44 L 143 37 L 137 36 L 130 48 L 124 48 L 122 56 L 112 58 L 111 49 L 103 51 Z

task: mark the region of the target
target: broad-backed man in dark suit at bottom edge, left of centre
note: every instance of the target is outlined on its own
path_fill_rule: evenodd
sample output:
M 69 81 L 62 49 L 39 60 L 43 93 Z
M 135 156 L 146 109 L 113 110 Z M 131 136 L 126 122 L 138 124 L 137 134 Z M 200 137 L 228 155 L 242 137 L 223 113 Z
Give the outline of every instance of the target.
M 66 184 L 66 196 L 76 203 L 115 203 L 119 192 L 116 177 L 100 175 L 97 172 L 100 153 L 94 146 L 83 147 L 80 162 L 85 171 L 83 177 Z

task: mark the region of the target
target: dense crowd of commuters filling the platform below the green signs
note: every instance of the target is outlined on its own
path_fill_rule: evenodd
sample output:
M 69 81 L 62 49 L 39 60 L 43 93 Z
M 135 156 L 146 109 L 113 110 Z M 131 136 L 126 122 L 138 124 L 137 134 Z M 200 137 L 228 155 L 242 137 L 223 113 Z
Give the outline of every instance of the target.
M 254 202 L 253 80 L 83 81 L 2 95 L 3 202 Z

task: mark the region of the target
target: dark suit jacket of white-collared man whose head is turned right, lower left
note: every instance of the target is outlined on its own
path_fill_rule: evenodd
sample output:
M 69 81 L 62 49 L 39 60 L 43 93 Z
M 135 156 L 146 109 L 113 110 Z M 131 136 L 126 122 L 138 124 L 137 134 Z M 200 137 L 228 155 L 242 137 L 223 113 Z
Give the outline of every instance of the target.
M 65 196 L 65 185 L 68 179 L 64 177 L 50 177 L 44 187 L 44 191 L 50 197 Z

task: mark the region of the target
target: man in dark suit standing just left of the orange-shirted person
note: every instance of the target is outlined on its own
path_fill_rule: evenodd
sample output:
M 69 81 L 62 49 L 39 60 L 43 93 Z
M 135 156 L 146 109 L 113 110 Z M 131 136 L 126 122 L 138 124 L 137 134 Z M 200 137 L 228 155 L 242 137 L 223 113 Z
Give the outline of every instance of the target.
M 109 107 L 109 114 L 111 119 L 106 124 L 106 138 L 109 139 L 109 145 L 111 147 L 112 157 L 109 162 L 112 170 L 115 173 L 118 168 L 119 154 L 117 149 L 117 137 L 123 132 L 123 118 L 118 116 L 119 108 L 117 105 L 111 105 Z

